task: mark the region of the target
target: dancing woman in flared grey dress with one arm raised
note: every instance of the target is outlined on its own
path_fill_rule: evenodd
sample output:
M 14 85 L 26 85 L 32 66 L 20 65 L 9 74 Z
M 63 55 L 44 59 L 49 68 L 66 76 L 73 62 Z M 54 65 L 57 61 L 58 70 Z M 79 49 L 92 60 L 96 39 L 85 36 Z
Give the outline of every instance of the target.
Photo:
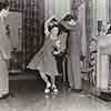
M 49 32 L 48 32 L 49 31 Z M 50 88 L 53 92 L 58 92 L 57 85 L 56 85 L 56 75 L 58 75 L 58 69 L 57 69 L 57 61 L 54 56 L 59 54 L 61 52 L 61 46 L 60 46 L 60 31 L 59 26 L 56 23 L 49 24 L 47 29 L 47 37 L 44 40 L 44 46 L 41 48 L 41 50 L 34 56 L 34 58 L 29 63 L 28 68 L 32 70 L 39 70 L 41 78 L 47 83 L 47 87 L 44 89 L 44 93 L 50 92 Z M 48 80 L 48 77 L 51 79 L 51 83 Z

